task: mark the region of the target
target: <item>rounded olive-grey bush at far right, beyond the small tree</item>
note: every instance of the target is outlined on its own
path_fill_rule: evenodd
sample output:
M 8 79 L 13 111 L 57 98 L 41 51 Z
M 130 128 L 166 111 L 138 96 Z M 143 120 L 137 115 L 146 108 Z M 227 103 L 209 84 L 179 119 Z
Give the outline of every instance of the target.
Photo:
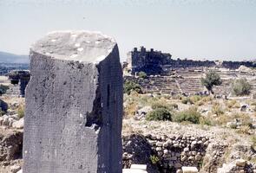
M 248 95 L 251 93 L 251 89 L 251 84 L 245 78 L 233 81 L 232 92 L 237 96 Z

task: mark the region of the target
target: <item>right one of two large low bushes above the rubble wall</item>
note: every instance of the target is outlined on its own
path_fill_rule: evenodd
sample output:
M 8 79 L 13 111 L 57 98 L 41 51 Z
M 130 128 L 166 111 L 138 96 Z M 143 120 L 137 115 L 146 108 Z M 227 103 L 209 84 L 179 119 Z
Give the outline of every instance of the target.
M 186 111 L 182 111 L 177 113 L 174 116 L 174 121 L 175 122 L 183 122 L 183 121 L 187 121 L 187 122 L 191 122 L 194 124 L 200 124 L 200 112 L 197 112 L 197 108 L 196 107 L 191 107 L 189 109 L 187 109 Z

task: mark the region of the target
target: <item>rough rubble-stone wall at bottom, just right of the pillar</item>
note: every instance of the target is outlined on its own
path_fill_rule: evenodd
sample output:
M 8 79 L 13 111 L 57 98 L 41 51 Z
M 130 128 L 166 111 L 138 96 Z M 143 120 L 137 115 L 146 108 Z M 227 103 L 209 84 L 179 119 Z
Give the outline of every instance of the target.
M 132 163 L 147 164 L 152 173 L 175 172 L 182 166 L 200 169 L 208 144 L 207 137 L 134 135 L 123 140 L 123 164 L 125 168 Z

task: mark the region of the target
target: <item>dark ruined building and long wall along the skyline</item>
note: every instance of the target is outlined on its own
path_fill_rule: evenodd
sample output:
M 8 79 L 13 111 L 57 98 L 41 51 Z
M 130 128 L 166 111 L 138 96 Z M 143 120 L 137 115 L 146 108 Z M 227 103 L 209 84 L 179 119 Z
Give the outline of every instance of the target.
M 141 47 L 140 50 L 134 48 L 128 53 L 128 70 L 132 74 L 145 72 L 146 74 L 168 74 L 173 68 L 187 67 L 226 67 L 237 69 L 241 65 L 246 67 L 256 67 L 253 61 L 223 61 L 216 63 L 215 61 L 194 61 L 194 60 L 173 60 L 171 54 L 161 53 Z

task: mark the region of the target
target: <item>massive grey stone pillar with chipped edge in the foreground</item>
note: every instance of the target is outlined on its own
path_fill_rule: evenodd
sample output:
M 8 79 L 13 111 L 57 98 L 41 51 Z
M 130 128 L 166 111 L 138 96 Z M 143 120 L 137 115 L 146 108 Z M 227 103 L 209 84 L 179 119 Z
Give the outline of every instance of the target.
M 23 173 L 121 173 L 122 72 L 116 42 L 52 32 L 30 48 Z

